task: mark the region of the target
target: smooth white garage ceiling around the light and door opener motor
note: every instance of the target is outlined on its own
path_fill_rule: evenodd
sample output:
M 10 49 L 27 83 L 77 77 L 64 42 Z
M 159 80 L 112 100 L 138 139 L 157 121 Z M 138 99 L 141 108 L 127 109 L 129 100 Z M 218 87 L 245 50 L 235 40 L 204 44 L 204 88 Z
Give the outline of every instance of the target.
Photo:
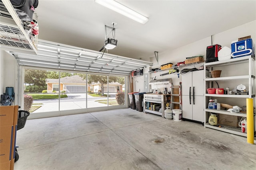
M 38 38 L 99 51 L 104 25 L 115 22 L 118 45 L 108 53 L 148 61 L 154 51 L 176 49 L 256 20 L 255 0 L 117 1 L 149 21 L 143 25 L 94 0 L 39 0 Z

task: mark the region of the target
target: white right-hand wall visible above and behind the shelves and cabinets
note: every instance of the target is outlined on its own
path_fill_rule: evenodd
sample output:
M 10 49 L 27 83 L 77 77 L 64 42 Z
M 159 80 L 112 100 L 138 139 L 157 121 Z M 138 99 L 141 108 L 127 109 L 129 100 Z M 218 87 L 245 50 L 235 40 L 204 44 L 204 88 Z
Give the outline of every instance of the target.
M 227 46 L 231 48 L 231 42 L 234 40 L 237 40 L 239 37 L 245 37 L 251 35 L 252 39 L 254 40 L 254 43 L 256 42 L 256 20 L 246 23 L 244 25 L 240 25 L 238 27 L 229 29 L 227 31 L 218 33 L 216 35 L 212 36 L 212 44 L 220 44 L 222 47 Z M 195 55 L 204 55 L 204 60 L 206 59 L 206 47 L 211 45 L 211 37 L 207 37 L 205 39 L 201 39 L 199 41 L 196 41 L 194 43 L 185 45 L 183 47 L 180 47 L 178 49 L 170 50 L 170 51 L 164 51 L 158 53 L 158 63 L 156 62 L 155 57 L 151 58 L 151 62 L 154 63 L 152 68 L 160 68 L 162 64 L 166 63 L 177 63 L 182 62 L 186 59 L 186 57 L 192 57 Z M 196 66 L 201 66 L 203 64 L 197 64 Z M 182 67 L 183 68 L 191 68 L 191 66 L 188 67 Z M 244 71 L 243 69 L 235 69 L 236 72 Z M 148 72 L 148 68 L 144 69 L 144 72 Z M 182 75 L 180 75 L 180 78 L 178 78 L 177 74 L 169 74 L 166 76 L 160 76 L 160 74 L 163 74 L 168 71 L 162 71 L 162 72 L 156 72 L 152 73 L 149 77 L 155 77 L 156 79 L 162 79 L 162 78 L 172 78 L 172 82 L 174 85 L 178 85 L 181 81 Z M 225 70 L 223 70 L 225 72 Z M 135 82 L 137 78 L 134 78 L 133 83 Z M 143 84 L 136 84 L 137 89 L 143 89 Z M 135 89 L 134 89 L 135 90 Z

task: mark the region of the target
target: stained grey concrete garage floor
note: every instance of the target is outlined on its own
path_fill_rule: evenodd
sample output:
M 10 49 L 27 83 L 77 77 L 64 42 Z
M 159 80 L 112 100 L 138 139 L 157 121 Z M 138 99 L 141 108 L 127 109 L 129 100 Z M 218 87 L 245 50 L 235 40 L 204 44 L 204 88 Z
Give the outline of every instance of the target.
M 16 144 L 15 170 L 256 169 L 246 137 L 132 109 L 27 120 Z

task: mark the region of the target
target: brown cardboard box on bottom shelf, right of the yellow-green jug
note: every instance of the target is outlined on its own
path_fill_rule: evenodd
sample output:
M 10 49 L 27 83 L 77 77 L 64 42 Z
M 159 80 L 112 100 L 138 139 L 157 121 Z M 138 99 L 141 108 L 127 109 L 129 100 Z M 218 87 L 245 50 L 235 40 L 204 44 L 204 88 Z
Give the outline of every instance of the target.
M 241 119 L 239 116 L 233 116 L 233 115 L 225 115 L 225 114 L 219 114 L 219 124 L 222 125 L 228 125 L 232 127 L 239 127 L 238 123 Z

